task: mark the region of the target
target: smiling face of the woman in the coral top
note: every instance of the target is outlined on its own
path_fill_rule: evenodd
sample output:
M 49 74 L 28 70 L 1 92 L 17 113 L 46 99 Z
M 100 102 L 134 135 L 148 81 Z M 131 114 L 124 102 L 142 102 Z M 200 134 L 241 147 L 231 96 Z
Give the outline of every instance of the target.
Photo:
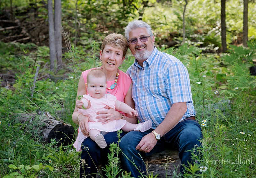
M 105 48 L 100 51 L 100 59 L 102 60 L 103 68 L 107 71 L 116 71 L 124 61 L 124 58 L 123 51 L 111 45 L 106 45 Z

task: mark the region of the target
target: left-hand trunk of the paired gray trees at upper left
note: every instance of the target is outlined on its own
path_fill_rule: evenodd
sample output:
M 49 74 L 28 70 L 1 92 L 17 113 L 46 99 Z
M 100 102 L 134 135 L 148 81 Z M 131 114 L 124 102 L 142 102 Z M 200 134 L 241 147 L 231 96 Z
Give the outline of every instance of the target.
M 57 59 L 54 35 L 52 0 L 48 0 L 48 23 L 49 23 L 49 48 L 50 48 L 50 68 L 54 70 L 54 61 Z

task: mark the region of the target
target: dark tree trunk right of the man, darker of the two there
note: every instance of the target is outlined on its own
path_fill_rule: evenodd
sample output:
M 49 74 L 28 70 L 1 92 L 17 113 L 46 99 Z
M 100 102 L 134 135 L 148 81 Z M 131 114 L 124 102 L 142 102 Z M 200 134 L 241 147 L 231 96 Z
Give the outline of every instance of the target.
M 227 42 L 226 42 L 226 0 L 221 0 L 221 44 L 222 52 L 227 51 Z

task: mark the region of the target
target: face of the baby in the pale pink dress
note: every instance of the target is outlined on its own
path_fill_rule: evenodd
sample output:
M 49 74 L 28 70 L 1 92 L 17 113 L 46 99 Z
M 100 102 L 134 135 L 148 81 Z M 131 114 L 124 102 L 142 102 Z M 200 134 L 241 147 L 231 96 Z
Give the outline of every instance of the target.
M 87 94 L 93 98 L 105 97 L 107 81 L 105 77 L 91 77 L 87 82 Z

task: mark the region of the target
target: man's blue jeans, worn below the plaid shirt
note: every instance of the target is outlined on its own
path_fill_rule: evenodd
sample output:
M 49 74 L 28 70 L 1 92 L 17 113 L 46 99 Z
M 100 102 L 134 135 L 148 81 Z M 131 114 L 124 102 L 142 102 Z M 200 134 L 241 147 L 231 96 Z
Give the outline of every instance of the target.
M 172 130 L 166 133 L 157 141 L 156 146 L 149 152 L 144 153 L 136 150 L 135 147 L 140 143 L 143 136 L 149 134 L 153 129 L 149 129 L 146 132 L 129 132 L 121 139 L 119 146 L 124 154 L 121 155 L 121 164 L 123 169 L 127 172 L 131 172 L 132 177 L 142 176 L 140 173 L 146 172 L 146 166 L 141 157 L 147 157 L 165 149 L 178 150 L 181 164 L 188 166 L 188 162 L 191 163 L 191 150 L 202 139 L 202 129 L 196 120 L 185 120 L 178 123 Z M 141 157 L 140 157 L 140 155 Z M 134 161 L 133 163 L 126 158 Z M 168 156 L 168 155 L 166 155 Z M 187 162 L 188 161 L 188 162 Z M 180 172 L 185 170 L 184 166 L 180 166 Z M 145 173 L 144 173 L 145 174 Z

